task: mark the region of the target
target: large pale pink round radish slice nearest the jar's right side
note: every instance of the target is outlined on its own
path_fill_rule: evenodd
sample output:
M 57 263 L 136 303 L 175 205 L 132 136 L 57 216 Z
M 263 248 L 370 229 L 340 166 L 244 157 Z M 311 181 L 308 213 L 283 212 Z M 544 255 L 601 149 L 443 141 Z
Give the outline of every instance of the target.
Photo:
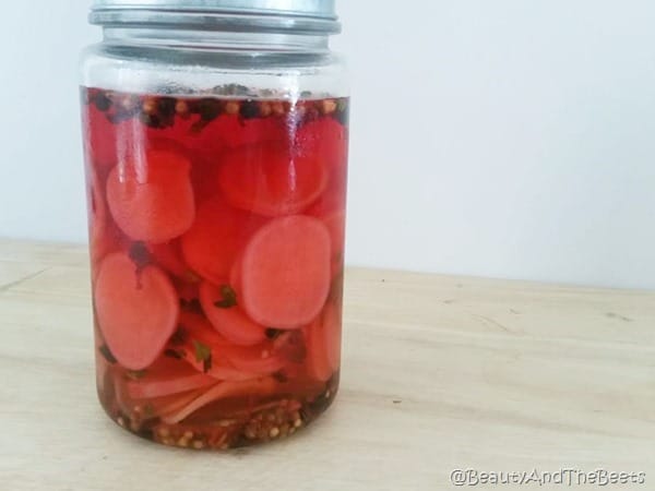
M 330 232 L 307 216 L 264 226 L 243 252 L 242 306 L 261 325 L 300 328 L 321 312 L 331 280 Z

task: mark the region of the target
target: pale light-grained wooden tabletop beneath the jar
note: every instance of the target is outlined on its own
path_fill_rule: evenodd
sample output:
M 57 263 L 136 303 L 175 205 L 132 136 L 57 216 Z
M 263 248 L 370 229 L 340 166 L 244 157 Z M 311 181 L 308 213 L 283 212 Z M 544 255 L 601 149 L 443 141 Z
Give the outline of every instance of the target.
M 295 439 L 212 454 L 102 412 L 86 261 L 0 241 L 3 491 L 441 490 L 457 468 L 562 467 L 655 489 L 653 292 L 350 270 L 337 404 Z

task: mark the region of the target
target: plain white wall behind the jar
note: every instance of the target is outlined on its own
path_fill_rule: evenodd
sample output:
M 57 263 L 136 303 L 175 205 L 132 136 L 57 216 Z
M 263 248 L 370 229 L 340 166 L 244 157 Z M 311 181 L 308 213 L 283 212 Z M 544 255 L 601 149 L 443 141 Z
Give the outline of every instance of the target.
M 85 1 L 2 7 L 0 236 L 84 241 Z M 655 4 L 341 0 L 348 262 L 655 288 Z

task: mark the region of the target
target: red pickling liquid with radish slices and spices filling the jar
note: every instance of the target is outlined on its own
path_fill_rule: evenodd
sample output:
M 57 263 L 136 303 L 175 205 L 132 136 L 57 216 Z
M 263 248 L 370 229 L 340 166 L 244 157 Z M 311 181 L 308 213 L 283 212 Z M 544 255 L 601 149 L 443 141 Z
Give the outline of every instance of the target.
M 338 386 L 348 100 L 82 98 L 107 414 L 196 450 L 306 427 Z

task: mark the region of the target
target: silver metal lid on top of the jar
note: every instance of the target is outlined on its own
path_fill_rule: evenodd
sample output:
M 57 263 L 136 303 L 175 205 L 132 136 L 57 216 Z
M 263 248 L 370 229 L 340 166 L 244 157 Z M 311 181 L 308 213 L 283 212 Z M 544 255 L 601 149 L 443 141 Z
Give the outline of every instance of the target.
M 94 0 L 90 22 L 234 32 L 341 32 L 335 0 Z

